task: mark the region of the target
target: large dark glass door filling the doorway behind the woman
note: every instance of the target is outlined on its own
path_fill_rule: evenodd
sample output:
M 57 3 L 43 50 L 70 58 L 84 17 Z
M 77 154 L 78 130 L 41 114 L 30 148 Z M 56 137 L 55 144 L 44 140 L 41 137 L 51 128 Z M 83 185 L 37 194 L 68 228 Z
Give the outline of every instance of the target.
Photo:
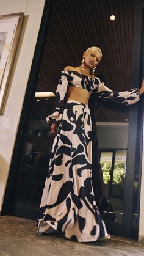
M 113 85 L 116 86 L 124 81 L 119 88 L 121 90 L 126 89 L 127 85 L 137 87 L 141 76 L 142 0 L 107 0 L 107 5 L 103 0 L 84 0 L 82 4 L 81 1 L 69 0 L 64 1 L 65 3 L 63 0 L 52 2 L 54 4 L 51 16 L 49 15 L 50 18 L 45 16 L 48 15 L 47 6 L 44 13 L 45 26 L 41 27 L 42 36 L 38 38 L 38 47 L 43 42 L 43 53 L 41 51 L 40 55 L 39 48 L 35 51 L 2 211 L 3 214 L 8 213 L 30 219 L 37 219 L 38 216 L 41 194 L 48 171 L 49 153 L 54 139 L 45 121 L 54 104 L 54 97 L 49 95 L 55 94 L 59 74 L 63 67 L 67 65 L 76 67 L 81 62 L 82 51 L 89 46 L 98 45 L 103 48 L 104 57 L 96 74 L 103 73 L 104 70 L 109 73 Z M 122 20 L 111 23 L 109 14 L 112 11 L 115 11 L 119 18 L 123 17 Z M 88 13 L 89 16 L 87 16 Z M 131 19 L 128 13 L 134 14 Z M 48 20 L 49 23 L 46 23 Z M 128 30 L 128 20 L 131 20 L 130 30 Z M 49 26 L 46 27 L 46 24 Z M 125 27 L 125 31 L 129 33 L 123 34 Z M 120 40 L 117 40 L 118 37 L 115 35 L 120 35 Z M 121 51 L 122 45 L 126 46 L 124 51 Z M 131 54 L 127 56 L 129 48 L 131 48 Z M 35 68 L 35 59 L 37 59 L 37 68 Z M 126 70 L 122 72 L 123 66 Z M 36 97 L 35 92 L 45 92 L 45 95 L 40 97 L 39 94 Z M 100 161 L 104 186 L 112 206 L 110 214 L 103 213 L 103 217 L 108 232 L 113 235 L 131 237 L 132 230 L 138 227 L 133 214 L 137 216 L 139 214 L 139 205 L 134 207 L 135 200 L 139 199 L 139 192 L 137 192 L 139 188 L 136 188 L 139 179 L 138 175 L 135 175 L 135 163 L 137 163 L 137 170 L 140 166 L 140 155 L 137 155 L 139 106 L 140 104 L 137 104 L 131 107 L 128 114 L 121 113 L 119 116 L 114 112 L 109 115 L 106 109 L 101 108 L 97 119 L 99 123 L 109 123 L 107 128 L 105 125 L 106 133 L 102 133 L 102 136 L 99 133 L 103 132 L 103 125 L 100 130 L 98 129 L 98 137 L 101 139 L 99 150 L 101 151 Z M 120 132 L 118 135 L 114 131 L 113 123 L 129 123 L 129 125 L 121 125 L 121 127 L 117 125 L 117 130 L 119 129 L 118 132 Z M 141 126 L 142 122 L 139 125 Z M 115 145 L 117 141 L 119 145 Z M 134 191 L 136 191 L 135 194 Z M 134 236 L 135 234 L 134 231 Z

